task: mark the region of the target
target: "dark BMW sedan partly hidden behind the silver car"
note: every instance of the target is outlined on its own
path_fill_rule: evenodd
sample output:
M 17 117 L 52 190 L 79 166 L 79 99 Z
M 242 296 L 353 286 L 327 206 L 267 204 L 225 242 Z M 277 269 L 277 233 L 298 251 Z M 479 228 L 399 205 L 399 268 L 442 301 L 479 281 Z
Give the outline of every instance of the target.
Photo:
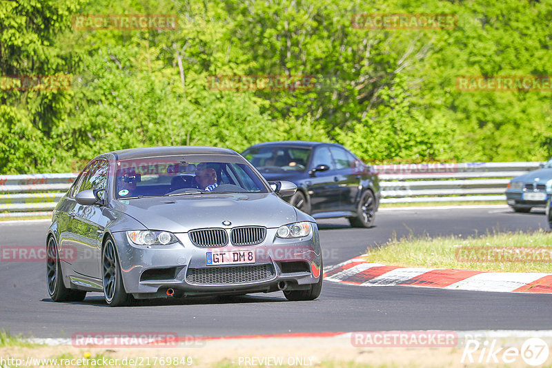
M 342 145 L 281 141 L 242 152 L 268 181 L 297 185 L 291 204 L 314 218 L 346 217 L 354 227 L 371 227 L 380 204 L 377 173 Z

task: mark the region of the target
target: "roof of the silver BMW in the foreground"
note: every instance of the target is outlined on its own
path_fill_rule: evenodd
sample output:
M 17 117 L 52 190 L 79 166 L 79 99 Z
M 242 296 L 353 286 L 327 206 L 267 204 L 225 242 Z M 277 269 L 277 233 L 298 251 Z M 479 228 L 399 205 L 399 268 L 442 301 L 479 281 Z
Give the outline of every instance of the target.
M 107 152 L 107 154 L 114 154 L 117 160 L 128 160 L 151 156 L 177 156 L 181 154 L 230 154 L 235 156 L 237 152 L 228 148 L 202 147 L 199 145 L 172 145 L 166 147 L 129 148 L 127 150 Z

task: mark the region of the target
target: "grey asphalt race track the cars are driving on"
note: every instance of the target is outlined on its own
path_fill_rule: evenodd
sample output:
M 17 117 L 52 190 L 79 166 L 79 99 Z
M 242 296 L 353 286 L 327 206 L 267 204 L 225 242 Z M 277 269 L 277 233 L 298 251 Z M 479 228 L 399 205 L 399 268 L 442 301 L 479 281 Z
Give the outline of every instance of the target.
M 0 246 L 43 245 L 46 222 L 0 223 Z M 395 233 L 470 236 L 493 230 L 548 229 L 542 212 L 506 207 L 393 209 L 377 213 L 371 229 L 342 219 L 319 222 L 325 265 L 385 243 Z M 552 272 L 552 267 L 551 267 Z M 312 302 L 288 302 L 281 292 L 242 297 L 148 300 L 111 308 L 99 293 L 82 303 L 48 298 L 42 262 L 0 262 L 0 329 L 34 337 L 75 332 L 172 332 L 178 336 L 237 336 L 322 331 L 409 329 L 552 329 L 552 296 L 464 292 L 413 287 L 324 283 Z

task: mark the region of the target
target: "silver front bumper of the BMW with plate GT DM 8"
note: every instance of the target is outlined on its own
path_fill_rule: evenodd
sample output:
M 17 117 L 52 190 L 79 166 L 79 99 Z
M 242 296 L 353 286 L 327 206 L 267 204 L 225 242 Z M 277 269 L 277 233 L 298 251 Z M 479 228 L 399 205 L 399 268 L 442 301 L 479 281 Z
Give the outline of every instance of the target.
M 136 298 L 175 295 L 248 294 L 274 292 L 279 281 L 288 289 L 306 289 L 322 277 L 318 229 L 305 238 L 282 239 L 266 229 L 262 243 L 253 246 L 197 247 L 188 233 L 175 234 L 179 243 L 141 246 L 128 242 L 125 232 L 112 234 L 127 293 Z M 230 229 L 228 229 L 230 231 Z M 255 251 L 255 263 L 206 265 L 208 252 Z

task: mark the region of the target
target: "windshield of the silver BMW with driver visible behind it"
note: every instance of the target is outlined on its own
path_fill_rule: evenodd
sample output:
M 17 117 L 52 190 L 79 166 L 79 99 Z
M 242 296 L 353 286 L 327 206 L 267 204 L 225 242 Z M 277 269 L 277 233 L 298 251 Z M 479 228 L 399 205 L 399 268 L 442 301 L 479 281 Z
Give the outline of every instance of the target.
M 237 156 L 202 161 L 197 161 L 197 157 L 188 159 L 177 156 L 118 161 L 115 198 L 268 193 L 262 178 Z

